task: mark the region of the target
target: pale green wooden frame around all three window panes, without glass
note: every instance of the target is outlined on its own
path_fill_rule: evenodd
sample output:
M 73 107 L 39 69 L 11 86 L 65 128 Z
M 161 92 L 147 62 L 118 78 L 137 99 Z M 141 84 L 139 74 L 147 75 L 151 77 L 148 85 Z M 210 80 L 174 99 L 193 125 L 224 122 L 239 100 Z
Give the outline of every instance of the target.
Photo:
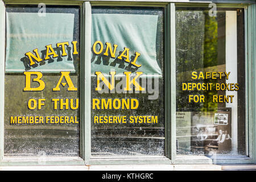
M 46 158 L 43 165 L 93 165 L 93 164 L 250 164 L 256 163 L 256 53 L 255 53 L 255 5 L 226 3 L 218 1 L 217 7 L 239 7 L 245 9 L 245 61 L 246 61 L 246 148 L 249 157 L 217 158 L 212 160 L 206 156 L 176 155 L 176 76 L 175 76 L 175 7 L 208 7 L 209 3 L 175 3 L 160 0 L 144 2 L 116 1 L 2 1 L 0 0 L 0 121 L 4 119 L 5 101 L 5 5 L 78 5 L 80 6 L 80 157 L 78 158 Z M 242 2 L 242 1 L 241 1 Z M 248 1 L 250 3 L 251 1 Z M 165 142 L 164 157 L 149 158 L 97 158 L 90 156 L 91 144 L 91 88 L 90 86 L 90 48 L 92 6 L 144 6 L 164 7 L 164 116 Z M 40 166 L 38 158 L 3 158 L 4 126 L 0 122 L 0 166 Z

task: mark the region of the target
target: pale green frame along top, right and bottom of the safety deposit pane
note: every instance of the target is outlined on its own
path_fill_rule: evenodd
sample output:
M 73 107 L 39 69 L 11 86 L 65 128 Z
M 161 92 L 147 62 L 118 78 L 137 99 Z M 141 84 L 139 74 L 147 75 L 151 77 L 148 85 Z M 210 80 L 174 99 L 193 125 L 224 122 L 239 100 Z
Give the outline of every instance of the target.
M 176 7 L 208 7 L 209 3 L 175 3 Z M 252 89 L 252 72 L 253 67 L 250 65 L 253 63 L 253 59 L 248 55 L 249 51 L 248 48 L 250 47 L 248 44 L 251 41 L 250 33 L 248 30 L 250 29 L 250 6 L 248 5 L 237 5 L 237 4 L 225 4 L 225 3 L 217 3 L 218 8 L 242 8 L 245 10 L 245 125 L 246 125 L 246 155 L 248 156 L 216 156 L 212 159 L 208 158 L 207 156 L 192 156 L 192 155 L 176 155 L 174 156 L 174 164 L 249 164 L 254 163 L 255 158 L 255 150 L 253 146 L 255 146 L 255 141 L 253 140 L 252 133 L 255 133 L 253 130 L 253 125 L 255 125 L 255 120 L 253 122 L 253 113 L 251 109 L 255 102 L 253 102 L 250 98 L 253 97 L 253 93 L 250 90 Z M 253 22 L 253 21 L 252 21 Z M 253 52 L 251 52 L 253 53 Z M 176 121 L 175 121 L 176 123 Z M 173 125 L 172 125 L 173 127 Z M 175 135 L 176 133 L 172 133 Z

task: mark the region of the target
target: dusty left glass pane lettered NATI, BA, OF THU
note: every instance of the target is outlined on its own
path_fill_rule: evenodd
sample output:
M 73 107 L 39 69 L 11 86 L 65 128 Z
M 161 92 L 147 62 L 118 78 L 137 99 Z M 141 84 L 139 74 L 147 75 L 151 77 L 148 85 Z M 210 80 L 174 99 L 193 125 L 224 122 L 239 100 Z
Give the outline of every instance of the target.
M 79 7 L 6 7 L 4 155 L 79 156 Z

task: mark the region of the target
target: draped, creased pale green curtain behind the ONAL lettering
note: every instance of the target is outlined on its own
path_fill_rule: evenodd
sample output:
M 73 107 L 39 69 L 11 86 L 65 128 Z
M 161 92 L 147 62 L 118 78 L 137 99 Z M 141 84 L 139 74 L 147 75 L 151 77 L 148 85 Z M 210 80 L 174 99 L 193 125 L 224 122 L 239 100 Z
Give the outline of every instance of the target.
M 92 14 L 92 45 L 100 40 L 105 46 L 106 42 L 117 44 L 117 57 L 124 47 L 130 48 L 129 57 L 134 56 L 135 52 L 141 53 L 136 64 L 140 65 L 138 69 L 134 68 L 132 72 L 138 71 L 144 74 L 158 74 L 162 76 L 162 71 L 156 58 L 156 34 L 158 27 L 158 15 L 150 14 L 110 14 L 93 13 Z M 99 47 L 99 46 L 98 46 Z M 102 51 L 104 52 L 104 51 Z M 99 57 L 100 56 L 100 57 Z M 108 61 L 103 61 L 102 55 L 93 55 L 91 70 L 101 71 L 109 74 L 110 71 L 116 71 L 117 74 L 129 71 L 126 69 L 129 63 L 119 61 L 113 64 L 115 59 L 110 57 Z M 131 59 L 129 59 L 131 60 Z

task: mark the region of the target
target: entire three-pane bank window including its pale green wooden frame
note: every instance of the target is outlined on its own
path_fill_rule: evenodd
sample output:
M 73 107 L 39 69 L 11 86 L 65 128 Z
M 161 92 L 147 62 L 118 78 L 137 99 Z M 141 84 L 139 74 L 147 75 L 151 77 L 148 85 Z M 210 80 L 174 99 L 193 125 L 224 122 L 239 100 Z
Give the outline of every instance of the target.
M 40 5 L 0 0 L 1 164 L 254 163 L 255 6 Z

